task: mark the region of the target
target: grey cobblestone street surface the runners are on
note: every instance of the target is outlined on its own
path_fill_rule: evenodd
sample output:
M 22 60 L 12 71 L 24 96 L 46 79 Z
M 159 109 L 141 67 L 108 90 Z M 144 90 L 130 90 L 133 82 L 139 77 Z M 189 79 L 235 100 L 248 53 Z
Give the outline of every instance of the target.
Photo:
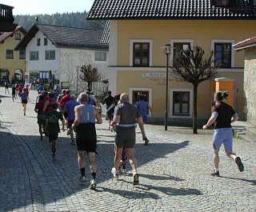
M 12 102 L 0 88 L 0 211 L 256 211 L 256 142 L 234 139 L 234 151 L 245 171 L 223 151 L 221 178 L 212 178 L 212 131 L 146 126 L 150 146 L 137 134 L 135 149 L 139 186 L 132 172 L 118 180 L 110 170 L 114 134 L 107 123 L 97 126 L 97 189 L 78 181 L 76 147 L 59 134 L 57 160 L 52 161 L 46 138 L 38 136 L 31 91 L 26 116 L 20 100 Z M 138 129 L 137 129 L 138 131 Z M 90 178 L 88 159 L 86 175 Z

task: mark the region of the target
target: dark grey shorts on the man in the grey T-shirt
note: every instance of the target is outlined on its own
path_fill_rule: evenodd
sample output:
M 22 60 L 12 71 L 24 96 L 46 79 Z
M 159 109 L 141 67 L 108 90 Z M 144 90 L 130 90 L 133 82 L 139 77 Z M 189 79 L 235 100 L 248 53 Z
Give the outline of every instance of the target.
M 118 148 L 134 148 L 135 146 L 135 127 L 116 127 L 114 142 Z

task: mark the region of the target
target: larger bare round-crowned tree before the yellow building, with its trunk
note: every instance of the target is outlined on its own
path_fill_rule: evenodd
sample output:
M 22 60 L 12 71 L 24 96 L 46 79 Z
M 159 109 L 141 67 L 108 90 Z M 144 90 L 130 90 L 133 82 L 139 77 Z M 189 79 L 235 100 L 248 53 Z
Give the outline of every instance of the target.
M 198 85 L 217 76 L 217 66 L 214 64 L 213 54 L 203 58 L 205 51 L 200 46 L 188 50 L 181 50 L 178 58 L 174 59 L 173 70 L 185 82 L 193 84 L 193 133 L 198 134 Z

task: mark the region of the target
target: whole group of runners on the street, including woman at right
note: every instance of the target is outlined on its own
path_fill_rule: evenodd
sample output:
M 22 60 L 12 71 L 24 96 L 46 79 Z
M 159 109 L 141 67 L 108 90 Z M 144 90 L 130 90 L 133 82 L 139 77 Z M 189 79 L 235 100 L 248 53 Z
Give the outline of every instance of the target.
M 20 95 L 22 99 L 26 99 L 28 96 L 26 96 L 25 89 Z M 206 130 L 214 124 L 214 173 L 211 175 L 216 177 L 220 176 L 218 170 L 218 152 L 222 143 L 224 144 L 227 157 L 234 159 L 238 170 L 241 172 L 244 170 L 241 158 L 232 151 L 233 133 L 230 123 L 238 120 L 238 114 L 232 106 L 226 104 L 226 97 L 226 94 L 222 92 L 215 94 L 212 115 L 206 125 L 203 126 L 203 129 Z M 90 180 L 91 190 L 94 190 L 96 187 L 97 172 L 95 157 L 97 154 L 97 136 L 95 124 L 102 124 L 102 117 L 98 110 L 99 103 L 97 102 L 98 100 L 89 91 L 79 94 L 78 98 L 76 98 L 75 95 L 70 94 L 70 90 L 63 90 L 63 94 L 59 96 L 46 90 L 42 92 L 38 90 L 37 103 L 34 107 L 34 111 L 38 114 L 40 139 L 42 140 L 42 134 L 46 134 L 49 138 L 53 159 L 56 159 L 58 133 L 60 133 L 59 120 L 62 121 L 63 131 L 65 131 L 65 126 L 67 126 L 67 134 L 70 134 L 71 143 L 77 145 L 81 182 L 86 182 L 84 154 L 87 152 L 92 176 Z M 111 173 L 114 178 L 119 177 L 120 170 L 122 174 L 125 174 L 126 162 L 128 160 L 133 170 L 133 185 L 138 185 L 137 160 L 134 156 L 135 128 L 138 123 L 142 132 L 142 139 L 145 145 L 148 145 L 149 140 L 146 138 L 144 122 L 147 120 L 148 110 L 153 115 L 152 107 L 146 102 L 144 95 L 139 97 L 138 102 L 131 104 L 128 94 L 119 94 L 112 97 L 110 91 L 102 103 L 106 103 L 109 129 L 115 132 L 114 167 Z M 22 104 L 26 105 L 26 102 L 22 100 Z M 24 110 L 25 114 L 26 106 Z M 62 114 L 64 114 L 64 118 Z M 76 142 L 74 142 L 74 132 Z

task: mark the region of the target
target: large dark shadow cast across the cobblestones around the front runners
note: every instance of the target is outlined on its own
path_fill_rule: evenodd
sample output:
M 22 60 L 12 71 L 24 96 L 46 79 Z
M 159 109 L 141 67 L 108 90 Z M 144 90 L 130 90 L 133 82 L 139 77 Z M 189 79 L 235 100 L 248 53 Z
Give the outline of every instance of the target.
M 85 190 L 89 186 L 89 182 L 86 185 L 81 185 L 78 178 L 80 177 L 80 170 L 77 162 L 77 150 L 76 146 L 71 145 L 70 138 L 61 137 L 59 134 L 58 147 L 57 147 L 57 160 L 53 161 L 51 158 L 50 144 L 48 138 L 43 138 L 43 141 L 39 141 L 39 136 L 28 136 L 20 134 L 10 134 L 1 131 L 0 128 L 0 149 L 4 154 L 0 154 L 1 173 L 5 173 L 0 178 L 0 184 L 5 185 L 6 189 L 2 189 L 0 192 L 0 202 L 6 202 L 5 205 L 0 204 L 0 210 L 13 210 L 18 207 L 27 206 L 27 202 L 34 202 L 38 206 L 45 206 L 46 203 L 56 202 L 59 199 L 69 197 L 71 194 L 75 194 L 78 191 Z M 12 138 L 12 139 L 10 139 Z M 103 137 L 101 137 L 103 138 Z M 144 146 L 142 143 L 138 143 L 135 146 L 135 156 L 138 159 L 138 172 L 140 166 L 152 162 L 157 158 L 163 158 L 166 154 L 173 153 L 176 150 L 180 150 L 189 144 L 188 141 L 180 143 L 170 142 L 156 142 L 150 146 Z M 8 155 L 14 155 L 14 150 L 17 150 L 17 157 L 12 158 Z M 102 182 L 108 181 L 112 178 L 110 170 L 114 164 L 114 142 L 99 139 L 98 140 L 98 154 L 96 154 L 96 160 L 98 165 L 97 171 L 97 191 L 109 192 L 113 194 L 122 195 L 125 198 L 160 198 L 158 194 L 149 192 L 149 190 L 161 191 L 164 194 L 170 195 L 189 195 L 189 194 L 201 194 L 200 190 L 193 189 L 176 189 L 163 186 L 151 186 L 146 185 L 141 180 L 140 192 L 131 190 L 113 190 L 109 187 L 101 185 Z M 20 160 L 22 165 L 18 165 L 14 160 Z M 129 170 L 128 166 L 128 170 Z M 16 173 L 15 170 L 26 170 L 22 173 Z M 10 170 L 9 172 L 5 170 Z M 89 162 L 86 154 L 86 176 L 91 178 L 89 171 Z M 150 174 L 141 174 L 142 178 L 150 178 L 152 180 L 166 180 L 166 181 L 182 181 L 183 179 L 176 178 L 174 176 L 161 176 Z M 21 179 L 27 179 L 29 185 L 20 185 Z M 12 179 L 10 181 L 10 179 Z M 132 183 L 132 178 L 130 182 Z M 15 182 L 15 183 L 14 183 Z M 109 182 L 111 183 L 111 181 Z M 121 183 L 126 183 L 125 181 Z M 109 185 L 109 184 L 107 184 Z M 14 186 L 20 186 L 22 190 L 12 190 Z M 111 186 L 110 186 L 111 187 Z M 112 186 L 113 187 L 113 186 Z M 22 195 L 22 192 L 28 193 L 31 196 L 31 200 L 27 200 L 29 197 Z M 11 201 L 6 201 L 6 197 L 10 196 Z M 13 202 L 19 202 L 18 205 Z

